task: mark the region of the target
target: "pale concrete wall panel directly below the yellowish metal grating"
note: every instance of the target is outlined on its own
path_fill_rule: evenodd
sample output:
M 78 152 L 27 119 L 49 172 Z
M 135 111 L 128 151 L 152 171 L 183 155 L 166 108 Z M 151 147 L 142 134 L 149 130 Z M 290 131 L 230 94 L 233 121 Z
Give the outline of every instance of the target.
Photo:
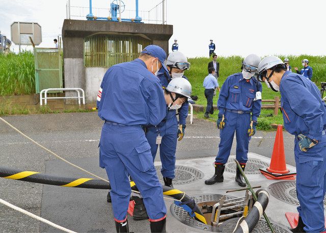
M 97 92 L 106 70 L 107 68 L 103 67 L 85 68 L 85 97 L 88 102 L 96 102 Z

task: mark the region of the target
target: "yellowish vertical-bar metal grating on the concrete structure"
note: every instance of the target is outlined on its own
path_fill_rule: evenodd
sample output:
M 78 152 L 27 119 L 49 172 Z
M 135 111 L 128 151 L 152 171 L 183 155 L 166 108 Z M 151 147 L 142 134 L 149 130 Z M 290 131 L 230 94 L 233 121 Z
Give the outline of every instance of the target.
M 151 40 L 141 36 L 94 35 L 84 39 L 84 65 L 110 67 L 139 57 Z

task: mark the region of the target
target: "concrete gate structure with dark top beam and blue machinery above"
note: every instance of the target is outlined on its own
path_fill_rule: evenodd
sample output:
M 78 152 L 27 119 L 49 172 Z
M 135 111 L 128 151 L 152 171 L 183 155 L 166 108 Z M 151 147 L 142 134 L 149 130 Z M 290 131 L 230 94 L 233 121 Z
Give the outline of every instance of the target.
M 108 67 L 85 67 L 84 39 L 92 35 L 140 36 L 164 48 L 168 54 L 173 25 L 65 19 L 62 28 L 66 88 L 83 88 L 86 102 L 95 102 Z M 67 92 L 66 95 L 74 95 Z

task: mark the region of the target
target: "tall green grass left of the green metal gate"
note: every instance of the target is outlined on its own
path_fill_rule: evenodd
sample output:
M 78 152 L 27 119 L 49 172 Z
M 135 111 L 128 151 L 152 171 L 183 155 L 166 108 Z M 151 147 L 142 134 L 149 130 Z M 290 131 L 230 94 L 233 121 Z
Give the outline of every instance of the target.
M 29 51 L 0 55 L 0 95 L 35 93 L 34 55 Z

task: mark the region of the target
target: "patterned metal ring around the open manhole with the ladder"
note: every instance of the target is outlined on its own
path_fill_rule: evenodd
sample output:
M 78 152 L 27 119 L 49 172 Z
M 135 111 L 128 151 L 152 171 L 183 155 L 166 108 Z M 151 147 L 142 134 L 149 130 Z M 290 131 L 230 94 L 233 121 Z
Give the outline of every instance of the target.
M 218 202 L 223 195 L 221 194 L 201 194 L 192 196 L 192 198 L 196 201 L 196 203 L 200 202 L 206 202 L 206 201 L 216 201 Z M 232 196 L 226 196 L 226 199 L 234 198 Z M 170 211 L 174 217 L 176 217 L 180 222 L 183 224 L 186 224 L 188 226 L 192 226 L 198 229 L 202 230 L 208 230 L 208 231 L 214 231 L 219 232 L 218 227 L 213 227 L 211 225 L 206 225 L 204 223 L 201 223 L 199 221 L 196 221 L 195 219 L 191 218 L 183 208 L 180 206 L 177 206 L 175 204 L 171 204 Z

